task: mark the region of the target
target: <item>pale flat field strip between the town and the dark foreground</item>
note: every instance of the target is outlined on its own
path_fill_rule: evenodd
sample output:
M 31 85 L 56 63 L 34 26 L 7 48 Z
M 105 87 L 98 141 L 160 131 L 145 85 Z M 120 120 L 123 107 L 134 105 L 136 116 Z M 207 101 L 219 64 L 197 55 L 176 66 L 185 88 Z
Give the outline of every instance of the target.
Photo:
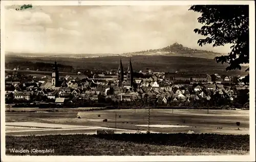
M 44 111 L 46 109 L 37 108 L 38 112 L 26 112 L 31 108 L 12 108 L 12 110 L 17 109 L 24 112 L 6 112 L 7 135 L 91 134 L 95 133 L 96 129 L 115 128 L 120 129 L 120 132 L 134 132 L 137 129 L 147 131 L 148 110 L 146 109 L 80 112 L 72 111 L 73 109 L 58 109 L 58 112 L 46 112 Z M 209 112 L 207 114 L 207 110 L 152 109 L 150 130 L 156 133 L 186 133 L 188 130 L 193 130 L 195 133 L 249 134 L 248 110 L 210 110 Z M 77 114 L 81 119 L 77 118 Z M 108 122 L 103 122 L 103 119 L 108 119 Z M 236 122 L 241 123 L 239 130 Z M 54 125 L 57 124 L 56 128 Z M 164 125 L 167 127 L 163 127 Z M 23 127 L 22 130 L 20 127 Z M 41 129 L 29 129 L 33 127 L 41 127 Z

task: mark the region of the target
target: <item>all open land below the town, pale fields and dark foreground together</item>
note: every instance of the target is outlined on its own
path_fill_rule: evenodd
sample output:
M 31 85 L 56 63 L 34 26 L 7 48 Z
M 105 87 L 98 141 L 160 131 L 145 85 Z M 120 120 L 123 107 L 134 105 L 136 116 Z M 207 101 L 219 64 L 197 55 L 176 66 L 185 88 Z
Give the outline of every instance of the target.
M 23 155 L 10 153 L 10 148 L 55 149 L 55 153 L 44 155 L 249 154 L 248 110 L 210 110 L 207 114 L 207 110 L 152 109 L 151 134 L 146 134 L 147 109 L 11 110 L 14 112 L 6 112 L 7 155 Z M 108 119 L 108 122 L 103 122 L 103 119 Z M 236 122 L 241 123 L 239 130 Z M 96 130 L 102 129 L 114 130 L 115 134 L 95 134 Z M 136 134 L 137 129 L 142 134 Z M 187 134 L 189 130 L 196 134 Z

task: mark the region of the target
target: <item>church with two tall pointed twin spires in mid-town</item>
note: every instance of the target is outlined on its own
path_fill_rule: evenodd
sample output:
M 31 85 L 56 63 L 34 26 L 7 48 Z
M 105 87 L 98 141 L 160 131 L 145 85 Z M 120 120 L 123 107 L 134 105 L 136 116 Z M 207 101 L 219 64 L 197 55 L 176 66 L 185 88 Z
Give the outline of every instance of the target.
M 118 87 L 133 87 L 133 66 L 130 59 L 130 64 L 126 72 L 126 77 L 124 78 L 124 71 L 123 71 L 123 65 L 122 60 L 120 58 L 120 64 L 117 72 L 117 80 L 118 80 Z

